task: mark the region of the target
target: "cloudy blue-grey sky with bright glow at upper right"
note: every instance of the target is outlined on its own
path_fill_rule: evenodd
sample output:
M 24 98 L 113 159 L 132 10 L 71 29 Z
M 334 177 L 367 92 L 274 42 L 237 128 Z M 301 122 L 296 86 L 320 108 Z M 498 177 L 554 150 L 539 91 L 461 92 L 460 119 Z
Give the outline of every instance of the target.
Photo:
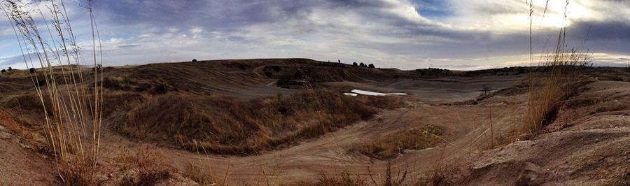
M 64 3 L 79 45 L 91 48 L 85 0 Z M 627 66 L 630 1 L 566 4 L 533 0 L 534 55 L 566 27 L 567 46 L 594 65 Z M 526 0 L 94 0 L 94 16 L 104 66 L 290 57 L 398 69 L 531 65 Z M 22 59 L 1 17 L 0 69 L 23 68 Z

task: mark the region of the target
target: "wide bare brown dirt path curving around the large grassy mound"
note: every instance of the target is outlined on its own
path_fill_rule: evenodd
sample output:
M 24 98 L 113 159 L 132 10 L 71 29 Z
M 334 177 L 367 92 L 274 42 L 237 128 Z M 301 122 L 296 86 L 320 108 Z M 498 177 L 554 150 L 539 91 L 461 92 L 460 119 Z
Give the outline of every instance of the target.
M 509 106 L 494 106 L 507 108 Z M 287 183 L 293 180 L 316 180 L 321 173 L 335 175 L 341 171 L 367 174 L 369 168 L 373 173 L 384 173 L 386 161 L 370 159 L 358 152 L 349 151 L 353 146 L 370 141 L 380 135 L 386 135 L 398 130 L 424 127 L 428 124 L 443 126 L 447 129 L 447 148 L 430 148 L 426 150 L 407 150 L 400 157 L 393 159 L 394 169 L 409 169 L 413 175 L 409 178 L 421 179 L 433 169 L 435 162 L 444 154 L 448 156 L 468 155 L 471 138 L 481 134 L 486 123 L 489 106 L 428 106 L 423 103 L 412 103 L 407 108 L 384 110 L 371 120 L 358 122 L 344 129 L 319 136 L 318 138 L 302 141 L 299 145 L 270 152 L 260 152 L 261 155 L 235 157 L 218 155 L 197 155 L 185 150 L 158 147 L 152 145 L 165 157 L 167 164 L 182 169 L 186 164 L 209 164 L 212 172 L 223 178 L 228 170 L 228 182 L 240 185 L 242 183 Z M 510 109 L 503 109 L 510 110 Z M 501 113 L 493 115 L 500 120 Z M 106 132 L 104 134 L 106 150 L 116 150 L 120 145 L 125 148 L 140 148 L 139 143 Z M 465 149 L 465 150 L 462 150 Z M 106 151 L 104 150 L 104 151 Z M 415 166 L 415 167 L 412 167 Z

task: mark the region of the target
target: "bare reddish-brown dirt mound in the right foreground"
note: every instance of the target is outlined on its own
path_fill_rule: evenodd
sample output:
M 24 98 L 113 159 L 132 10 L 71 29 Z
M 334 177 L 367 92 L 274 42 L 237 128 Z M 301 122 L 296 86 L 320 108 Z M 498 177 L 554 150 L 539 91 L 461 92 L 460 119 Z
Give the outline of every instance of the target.
M 546 134 L 482 152 L 442 184 L 628 185 L 629 91 L 626 82 L 591 83 L 563 104 Z

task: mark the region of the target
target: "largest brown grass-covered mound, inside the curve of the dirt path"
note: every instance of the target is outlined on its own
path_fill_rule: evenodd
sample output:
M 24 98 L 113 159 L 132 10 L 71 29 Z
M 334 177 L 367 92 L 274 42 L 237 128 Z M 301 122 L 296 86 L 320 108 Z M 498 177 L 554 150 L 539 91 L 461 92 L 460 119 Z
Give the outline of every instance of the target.
M 356 98 L 328 91 L 251 101 L 166 94 L 136 106 L 114 128 L 127 136 L 188 150 L 252 155 L 334 131 L 376 112 Z

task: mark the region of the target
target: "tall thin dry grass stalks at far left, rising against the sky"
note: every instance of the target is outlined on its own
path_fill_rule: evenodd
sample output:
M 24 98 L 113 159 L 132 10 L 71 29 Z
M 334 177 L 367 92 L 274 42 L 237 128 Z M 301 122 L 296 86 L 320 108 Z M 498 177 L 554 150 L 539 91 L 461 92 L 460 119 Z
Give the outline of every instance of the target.
M 48 17 L 41 6 L 50 13 Z M 85 7 L 92 30 L 92 69 L 86 67 L 64 1 L 3 0 L 0 8 L 13 27 L 25 65 L 40 69 L 29 74 L 43 106 L 47 141 L 59 178 L 65 185 L 94 184 L 103 108 L 99 82 L 103 76 L 96 68 L 102 66 L 102 55 L 97 52 L 100 41 L 92 1 Z M 44 85 L 38 83 L 40 78 Z

